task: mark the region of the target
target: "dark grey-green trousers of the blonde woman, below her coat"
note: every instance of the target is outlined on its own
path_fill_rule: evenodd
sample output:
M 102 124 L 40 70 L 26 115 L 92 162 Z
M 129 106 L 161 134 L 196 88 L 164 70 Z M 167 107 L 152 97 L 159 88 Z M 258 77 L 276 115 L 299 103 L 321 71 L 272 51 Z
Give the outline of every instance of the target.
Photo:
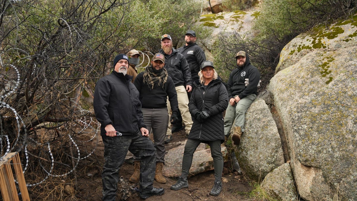
M 192 165 L 193 153 L 202 141 L 199 139 L 187 139 L 185 151 L 182 158 L 181 177 L 186 178 Z M 221 181 L 223 171 L 223 156 L 221 152 L 221 140 L 210 141 L 211 156 L 213 158 L 213 167 L 215 168 L 215 180 Z

